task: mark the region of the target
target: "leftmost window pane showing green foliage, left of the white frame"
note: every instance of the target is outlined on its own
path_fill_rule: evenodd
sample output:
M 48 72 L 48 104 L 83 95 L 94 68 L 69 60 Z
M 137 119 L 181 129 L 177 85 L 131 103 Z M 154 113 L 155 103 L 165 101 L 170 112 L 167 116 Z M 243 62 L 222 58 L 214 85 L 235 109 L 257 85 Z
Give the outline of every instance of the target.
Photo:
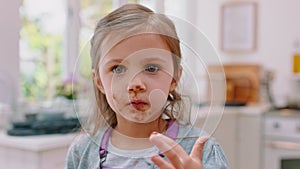
M 26 100 L 47 100 L 55 95 L 62 72 L 65 7 L 63 0 L 22 1 L 20 70 Z

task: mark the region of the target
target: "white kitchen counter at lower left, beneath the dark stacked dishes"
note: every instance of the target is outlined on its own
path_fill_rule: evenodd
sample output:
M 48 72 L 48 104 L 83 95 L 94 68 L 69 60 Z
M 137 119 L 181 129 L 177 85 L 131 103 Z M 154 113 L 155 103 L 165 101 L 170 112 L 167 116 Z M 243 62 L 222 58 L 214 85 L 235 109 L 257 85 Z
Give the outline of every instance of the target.
M 1 169 L 63 169 L 76 134 L 8 136 L 0 132 Z

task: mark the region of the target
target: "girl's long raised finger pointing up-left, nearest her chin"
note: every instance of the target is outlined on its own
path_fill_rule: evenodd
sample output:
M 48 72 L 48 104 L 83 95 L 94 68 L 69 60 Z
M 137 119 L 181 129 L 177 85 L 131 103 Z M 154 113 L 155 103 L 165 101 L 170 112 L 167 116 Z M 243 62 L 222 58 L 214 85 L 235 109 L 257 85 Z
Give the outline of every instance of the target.
M 182 168 L 186 159 L 190 158 L 185 150 L 171 138 L 163 134 L 153 133 L 150 141 L 168 158 L 176 168 Z

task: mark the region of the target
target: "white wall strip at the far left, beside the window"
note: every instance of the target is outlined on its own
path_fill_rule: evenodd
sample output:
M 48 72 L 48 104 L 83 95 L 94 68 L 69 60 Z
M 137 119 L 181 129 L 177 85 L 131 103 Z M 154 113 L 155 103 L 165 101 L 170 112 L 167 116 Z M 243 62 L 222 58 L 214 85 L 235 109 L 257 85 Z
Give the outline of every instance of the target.
M 12 105 L 19 91 L 19 3 L 0 0 L 0 102 Z

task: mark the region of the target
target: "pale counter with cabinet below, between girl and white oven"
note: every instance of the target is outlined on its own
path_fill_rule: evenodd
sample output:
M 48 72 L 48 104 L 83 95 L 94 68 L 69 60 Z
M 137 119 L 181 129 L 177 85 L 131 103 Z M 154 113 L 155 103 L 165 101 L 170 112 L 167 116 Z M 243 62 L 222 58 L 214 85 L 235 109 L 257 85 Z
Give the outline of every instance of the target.
M 270 106 L 195 107 L 192 123 L 212 134 L 222 146 L 231 169 L 259 168 L 261 150 L 261 120 Z M 197 113 L 198 112 L 198 113 Z M 249 157 L 252 157 L 249 159 Z

